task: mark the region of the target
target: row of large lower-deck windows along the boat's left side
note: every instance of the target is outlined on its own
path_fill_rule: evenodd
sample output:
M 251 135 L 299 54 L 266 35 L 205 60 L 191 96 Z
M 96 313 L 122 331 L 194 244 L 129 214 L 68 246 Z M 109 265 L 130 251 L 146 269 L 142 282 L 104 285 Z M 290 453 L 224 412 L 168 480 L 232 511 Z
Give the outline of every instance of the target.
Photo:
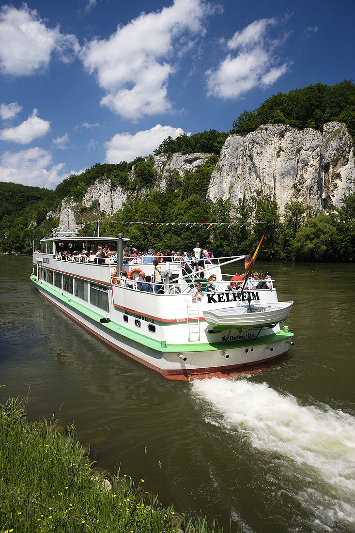
M 72 294 L 85 302 L 89 301 L 89 284 L 84 279 L 74 278 L 60 272 L 52 272 L 42 267 L 41 277 L 47 283 Z M 90 284 L 90 303 L 108 311 L 108 289 L 98 283 Z

